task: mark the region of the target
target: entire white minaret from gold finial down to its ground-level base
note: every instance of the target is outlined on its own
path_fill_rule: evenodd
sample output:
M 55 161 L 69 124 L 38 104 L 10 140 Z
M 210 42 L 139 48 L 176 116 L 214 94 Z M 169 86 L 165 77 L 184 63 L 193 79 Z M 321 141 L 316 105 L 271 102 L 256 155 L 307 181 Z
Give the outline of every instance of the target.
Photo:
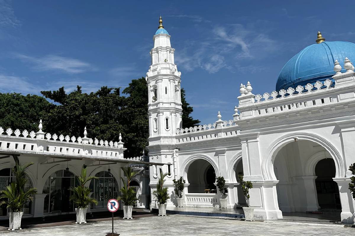
M 153 36 L 153 41 L 154 48 L 150 52 L 152 65 L 146 76 L 149 118 L 147 149 L 151 161 L 169 165 L 151 166 L 149 185 L 153 191 L 162 170 L 164 173 L 170 173 L 166 177 L 165 186 L 169 187 L 169 191 L 170 188 L 173 191 L 173 179 L 178 174 L 175 134 L 176 129 L 182 127 L 181 73 L 174 64 L 175 49 L 170 46 L 170 35 L 164 29 L 162 17 L 159 19 L 159 27 Z M 152 196 L 151 199 L 151 207 L 155 208 L 154 197 Z

